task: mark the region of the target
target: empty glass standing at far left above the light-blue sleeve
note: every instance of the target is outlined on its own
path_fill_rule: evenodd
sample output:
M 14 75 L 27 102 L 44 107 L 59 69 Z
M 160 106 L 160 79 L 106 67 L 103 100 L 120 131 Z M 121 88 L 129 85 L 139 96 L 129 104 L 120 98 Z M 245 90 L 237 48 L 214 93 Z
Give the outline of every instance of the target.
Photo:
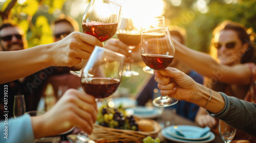
M 17 116 L 21 116 L 26 112 L 26 104 L 24 100 L 24 95 L 15 95 L 14 96 L 14 104 L 13 104 L 13 116 L 16 118 Z

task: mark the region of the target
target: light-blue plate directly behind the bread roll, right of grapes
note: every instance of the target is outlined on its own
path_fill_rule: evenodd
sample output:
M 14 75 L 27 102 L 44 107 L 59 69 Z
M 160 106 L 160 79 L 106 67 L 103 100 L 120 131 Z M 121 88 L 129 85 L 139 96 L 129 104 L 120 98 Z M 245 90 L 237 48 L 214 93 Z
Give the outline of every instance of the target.
M 154 107 L 138 106 L 126 109 L 126 113 L 140 118 L 156 118 L 158 109 Z

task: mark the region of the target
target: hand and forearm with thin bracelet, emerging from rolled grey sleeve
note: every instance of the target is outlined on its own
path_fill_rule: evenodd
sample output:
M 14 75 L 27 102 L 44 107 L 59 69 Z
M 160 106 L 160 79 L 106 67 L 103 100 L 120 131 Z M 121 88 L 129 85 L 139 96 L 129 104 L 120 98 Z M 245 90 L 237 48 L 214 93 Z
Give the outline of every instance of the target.
M 161 89 L 162 95 L 195 103 L 212 113 L 218 113 L 224 108 L 225 102 L 219 92 L 198 84 L 180 70 L 167 67 L 164 70 L 155 70 L 154 72 L 155 80 L 158 82 L 158 88 Z M 174 82 L 171 81 L 171 78 Z M 210 98 L 209 90 L 211 90 L 212 97 L 207 103 Z

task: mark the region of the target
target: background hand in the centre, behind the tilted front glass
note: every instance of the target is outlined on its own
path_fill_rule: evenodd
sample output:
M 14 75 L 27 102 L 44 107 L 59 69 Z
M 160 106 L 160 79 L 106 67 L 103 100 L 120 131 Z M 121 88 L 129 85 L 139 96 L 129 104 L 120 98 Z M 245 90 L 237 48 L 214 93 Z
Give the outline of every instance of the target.
M 132 58 L 132 54 L 129 53 L 129 46 L 124 44 L 118 39 L 109 39 L 104 44 L 105 49 L 112 50 L 114 52 L 123 54 L 125 56 L 124 62 L 133 62 L 134 60 Z

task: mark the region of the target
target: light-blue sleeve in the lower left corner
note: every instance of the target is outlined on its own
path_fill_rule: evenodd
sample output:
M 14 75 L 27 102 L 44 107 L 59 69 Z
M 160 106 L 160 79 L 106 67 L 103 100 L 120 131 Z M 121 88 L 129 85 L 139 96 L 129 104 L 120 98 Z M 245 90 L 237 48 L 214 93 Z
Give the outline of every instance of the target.
M 30 116 L 23 115 L 17 118 L 6 118 L 0 122 L 1 143 L 27 143 L 34 142 Z

